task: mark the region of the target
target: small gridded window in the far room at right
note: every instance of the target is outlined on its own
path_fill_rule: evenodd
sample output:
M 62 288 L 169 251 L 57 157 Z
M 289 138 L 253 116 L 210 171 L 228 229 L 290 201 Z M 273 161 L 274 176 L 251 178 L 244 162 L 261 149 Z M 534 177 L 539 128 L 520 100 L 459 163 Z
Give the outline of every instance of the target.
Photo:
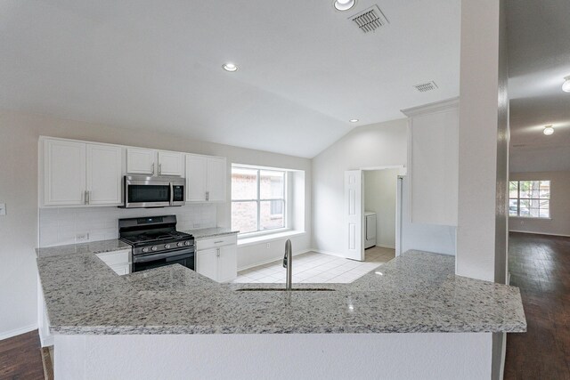
M 509 182 L 509 216 L 550 218 L 550 181 Z

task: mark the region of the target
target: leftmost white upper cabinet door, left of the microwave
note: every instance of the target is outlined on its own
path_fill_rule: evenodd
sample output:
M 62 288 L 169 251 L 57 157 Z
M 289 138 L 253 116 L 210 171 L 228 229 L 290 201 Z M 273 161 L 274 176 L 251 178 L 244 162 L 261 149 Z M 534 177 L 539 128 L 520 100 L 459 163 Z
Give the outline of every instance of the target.
M 85 203 L 85 143 L 45 140 L 44 204 Z

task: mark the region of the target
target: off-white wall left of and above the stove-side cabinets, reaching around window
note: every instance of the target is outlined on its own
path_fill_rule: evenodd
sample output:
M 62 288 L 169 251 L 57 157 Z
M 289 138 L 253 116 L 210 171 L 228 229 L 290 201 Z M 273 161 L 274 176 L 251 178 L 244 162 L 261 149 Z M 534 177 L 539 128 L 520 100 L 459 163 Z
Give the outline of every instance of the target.
M 16 335 L 37 324 L 37 267 L 34 248 L 38 243 L 37 141 L 40 135 L 99 141 L 123 145 L 188 151 L 223 156 L 240 164 L 286 167 L 305 171 L 305 239 L 296 250 L 308 249 L 311 236 L 311 160 L 260 150 L 247 150 L 180 136 L 133 131 L 109 125 L 96 125 L 55 117 L 41 117 L 0 111 L 0 202 L 8 214 L 0 216 L 0 338 Z M 228 165 L 228 179 L 230 165 Z M 228 181 L 227 194 L 231 183 Z M 231 205 L 217 207 L 216 220 L 230 227 Z M 306 247 L 301 247 L 306 244 Z M 263 245 L 265 247 L 265 244 Z M 266 250 L 281 255 L 282 247 Z M 248 255 L 239 249 L 238 255 Z

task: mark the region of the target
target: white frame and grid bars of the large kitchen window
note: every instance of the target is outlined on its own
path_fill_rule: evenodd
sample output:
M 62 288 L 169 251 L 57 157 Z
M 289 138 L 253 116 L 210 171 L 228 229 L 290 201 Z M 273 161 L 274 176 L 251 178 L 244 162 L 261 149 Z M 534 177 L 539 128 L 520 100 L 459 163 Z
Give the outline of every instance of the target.
M 255 236 L 260 236 L 260 235 L 268 235 L 268 234 L 272 234 L 272 233 L 279 233 L 279 232 L 282 232 L 284 230 L 289 230 L 289 227 L 288 227 L 289 226 L 289 223 L 288 223 L 289 213 L 287 212 L 288 196 L 289 196 L 289 193 L 288 193 L 288 178 L 289 178 L 288 170 L 276 168 L 276 167 L 232 164 L 232 175 L 230 176 L 231 180 L 232 180 L 234 168 L 255 170 L 257 172 L 256 173 L 256 193 L 257 193 L 256 198 L 234 199 L 234 198 L 232 198 L 232 196 L 230 197 L 232 205 L 234 202 L 256 202 L 256 206 L 257 206 L 256 230 L 252 230 L 252 231 L 248 231 L 248 232 L 239 232 L 238 236 L 239 237 L 255 237 Z M 263 171 L 283 173 L 283 190 L 282 190 L 283 191 L 282 192 L 283 198 L 261 198 L 261 172 L 263 172 Z M 283 209 L 282 209 L 283 227 L 277 227 L 277 228 L 269 229 L 269 230 L 260 230 L 260 228 L 261 228 L 261 202 L 271 202 L 271 201 L 282 201 L 283 202 Z M 271 206 L 270 206 L 270 212 L 271 212 Z M 232 219 L 232 217 L 233 217 L 232 211 L 230 211 L 230 218 Z M 231 223 L 232 223 L 232 221 L 231 221 Z

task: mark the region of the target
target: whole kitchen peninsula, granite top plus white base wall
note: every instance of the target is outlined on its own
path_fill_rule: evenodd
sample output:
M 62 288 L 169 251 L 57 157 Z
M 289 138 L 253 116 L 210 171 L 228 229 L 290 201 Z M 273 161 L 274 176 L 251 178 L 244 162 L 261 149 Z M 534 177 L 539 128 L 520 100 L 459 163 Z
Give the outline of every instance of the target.
M 333 291 L 290 294 L 179 265 L 118 276 L 88 252 L 40 251 L 37 263 L 63 379 L 485 378 L 491 357 L 477 348 L 526 329 L 516 287 L 419 251 L 352 284 L 303 284 Z

